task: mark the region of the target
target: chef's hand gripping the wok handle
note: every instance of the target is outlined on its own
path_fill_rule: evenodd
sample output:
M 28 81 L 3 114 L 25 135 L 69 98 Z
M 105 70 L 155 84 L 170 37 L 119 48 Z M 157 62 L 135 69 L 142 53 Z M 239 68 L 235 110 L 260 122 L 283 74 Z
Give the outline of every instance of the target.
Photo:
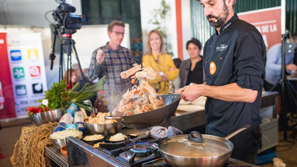
M 191 83 L 188 86 L 185 86 L 183 88 L 176 90 L 175 92 L 181 92 L 181 91 L 184 91 L 181 94 L 181 99 L 185 99 L 187 101 L 192 102 L 202 95 L 203 85 Z

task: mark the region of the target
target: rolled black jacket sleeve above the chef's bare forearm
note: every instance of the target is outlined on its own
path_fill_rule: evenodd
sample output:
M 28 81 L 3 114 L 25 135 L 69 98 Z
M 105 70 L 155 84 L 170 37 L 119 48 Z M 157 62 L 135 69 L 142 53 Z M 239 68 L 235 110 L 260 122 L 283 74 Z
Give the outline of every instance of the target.
M 263 51 L 259 35 L 255 32 L 244 32 L 239 35 L 234 52 L 234 75 L 241 88 L 260 91 L 265 78 L 266 53 Z

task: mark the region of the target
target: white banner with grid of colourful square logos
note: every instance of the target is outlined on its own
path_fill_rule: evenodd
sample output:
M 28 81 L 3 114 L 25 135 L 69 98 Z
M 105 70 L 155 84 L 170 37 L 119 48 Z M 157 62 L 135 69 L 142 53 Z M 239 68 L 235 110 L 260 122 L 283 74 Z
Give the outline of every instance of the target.
M 26 115 L 47 90 L 41 34 L 7 34 L 7 55 L 16 116 Z

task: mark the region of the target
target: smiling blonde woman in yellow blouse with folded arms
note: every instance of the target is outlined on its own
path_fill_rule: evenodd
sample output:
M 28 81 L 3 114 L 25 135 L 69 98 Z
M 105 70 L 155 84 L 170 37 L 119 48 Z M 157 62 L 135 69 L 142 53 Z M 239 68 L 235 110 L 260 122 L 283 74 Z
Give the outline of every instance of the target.
M 144 65 L 143 65 L 144 64 Z M 149 85 L 159 89 L 160 94 L 167 94 L 169 80 L 174 80 L 178 75 L 171 56 L 165 51 L 163 37 L 157 30 L 149 32 L 147 52 L 142 57 L 143 67 L 152 67 L 157 71 L 156 79 L 149 79 Z

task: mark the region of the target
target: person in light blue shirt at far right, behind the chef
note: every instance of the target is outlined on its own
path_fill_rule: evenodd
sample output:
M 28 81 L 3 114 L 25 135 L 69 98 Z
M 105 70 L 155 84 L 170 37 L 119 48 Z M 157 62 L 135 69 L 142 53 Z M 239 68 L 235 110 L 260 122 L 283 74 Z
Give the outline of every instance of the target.
M 297 43 L 297 32 L 292 34 L 292 39 L 290 42 Z M 281 86 L 279 80 L 282 75 L 282 44 L 277 43 L 267 51 L 267 60 L 266 60 L 266 77 L 264 80 L 264 89 L 266 91 L 277 90 L 281 92 Z M 286 75 L 293 75 L 297 71 L 297 65 L 293 64 L 294 53 L 285 54 L 285 69 Z M 273 89 L 274 88 L 274 89 Z M 272 90 L 271 90 L 272 89 Z

